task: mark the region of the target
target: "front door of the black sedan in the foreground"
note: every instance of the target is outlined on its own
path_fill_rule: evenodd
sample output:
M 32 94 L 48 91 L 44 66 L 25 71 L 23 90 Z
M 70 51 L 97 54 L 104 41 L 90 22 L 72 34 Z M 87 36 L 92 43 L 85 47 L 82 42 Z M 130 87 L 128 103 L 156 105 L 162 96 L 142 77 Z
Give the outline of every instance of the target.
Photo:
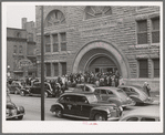
M 85 96 L 76 96 L 76 116 L 90 117 L 92 106 Z

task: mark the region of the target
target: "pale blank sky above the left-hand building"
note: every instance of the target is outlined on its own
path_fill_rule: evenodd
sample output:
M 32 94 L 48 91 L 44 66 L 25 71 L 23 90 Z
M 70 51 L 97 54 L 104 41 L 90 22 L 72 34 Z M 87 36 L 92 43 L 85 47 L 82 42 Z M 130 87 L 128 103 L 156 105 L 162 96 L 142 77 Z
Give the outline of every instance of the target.
M 35 22 L 35 6 L 8 6 L 7 7 L 7 27 L 22 28 L 22 18 L 27 21 Z

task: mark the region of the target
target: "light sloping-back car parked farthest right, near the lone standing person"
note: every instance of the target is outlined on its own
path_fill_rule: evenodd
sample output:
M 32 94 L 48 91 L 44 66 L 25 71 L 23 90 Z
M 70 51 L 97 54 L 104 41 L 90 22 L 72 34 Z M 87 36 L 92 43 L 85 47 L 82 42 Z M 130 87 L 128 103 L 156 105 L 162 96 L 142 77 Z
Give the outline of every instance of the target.
M 118 89 L 122 89 L 131 98 L 133 98 L 136 104 L 153 103 L 153 100 L 143 91 L 143 87 L 137 85 L 120 85 Z

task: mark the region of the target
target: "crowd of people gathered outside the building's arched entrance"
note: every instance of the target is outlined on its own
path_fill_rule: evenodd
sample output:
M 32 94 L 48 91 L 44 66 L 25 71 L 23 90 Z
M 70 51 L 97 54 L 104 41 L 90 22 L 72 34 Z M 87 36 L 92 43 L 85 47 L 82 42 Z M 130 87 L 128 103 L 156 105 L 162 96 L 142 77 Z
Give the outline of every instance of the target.
M 96 86 L 115 86 L 117 87 L 120 85 L 120 73 L 116 70 L 115 72 L 106 72 L 106 73 L 93 73 L 93 72 L 85 72 L 85 73 L 71 73 L 62 76 L 58 76 L 58 79 L 44 79 L 44 82 L 48 82 L 51 84 L 53 91 L 55 93 L 64 93 L 65 90 L 69 87 L 75 87 L 76 84 L 81 83 L 89 83 L 89 84 L 95 84 Z M 9 80 L 9 83 L 12 81 Z M 32 77 L 25 77 L 24 81 L 22 81 L 23 85 L 30 85 L 32 86 L 34 82 L 39 82 L 38 79 Z M 145 93 L 149 96 L 149 86 L 145 82 L 143 86 Z

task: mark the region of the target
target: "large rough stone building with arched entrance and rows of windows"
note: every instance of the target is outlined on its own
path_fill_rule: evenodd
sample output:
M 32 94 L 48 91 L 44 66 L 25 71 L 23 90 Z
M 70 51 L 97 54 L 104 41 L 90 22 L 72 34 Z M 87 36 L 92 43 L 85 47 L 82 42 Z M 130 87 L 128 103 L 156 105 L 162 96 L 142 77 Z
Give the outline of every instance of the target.
M 37 7 L 41 74 L 41 10 Z M 44 6 L 45 77 L 118 70 L 126 84 L 159 86 L 159 7 Z

